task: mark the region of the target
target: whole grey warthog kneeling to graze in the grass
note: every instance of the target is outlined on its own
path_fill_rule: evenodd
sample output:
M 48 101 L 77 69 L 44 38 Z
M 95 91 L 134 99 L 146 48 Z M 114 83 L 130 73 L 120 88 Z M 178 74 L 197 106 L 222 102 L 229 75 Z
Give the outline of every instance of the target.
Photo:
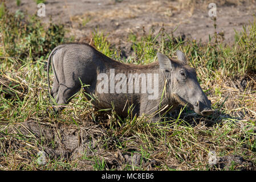
M 49 81 L 51 58 L 52 90 Z M 157 53 L 157 59 L 148 65 L 124 64 L 84 43 L 54 48 L 48 58 L 47 74 L 50 95 L 60 105 L 55 111 L 62 110 L 63 105 L 70 102 L 81 89 L 82 82 L 89 85 L 84 90 L 94 98 L 92 104 L 97 109 L 114 107 L 121 117 L 152 114 L 157 119 L 159 114 L 179 104 L 191 107 L 200 115 L 213 113 L 211 102 L 197 81 L 195 69 L 186 63 L 184 53 L 177 51 L 177 59 Z M 87 94 L 87 99 L 91 100 Z

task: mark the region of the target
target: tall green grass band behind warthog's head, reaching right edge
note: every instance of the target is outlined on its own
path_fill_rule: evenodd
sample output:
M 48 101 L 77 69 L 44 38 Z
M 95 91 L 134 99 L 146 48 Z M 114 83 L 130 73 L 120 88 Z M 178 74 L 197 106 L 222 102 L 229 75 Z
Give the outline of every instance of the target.
M 215 27 L 216 20 L 214 20 Z M 136 53 L 136 62 L 144 63 L 144 61 L 155 60 L 157 51 L 161 51 L 171 57 L 176 49 L 180 49 L 188 56 L 188 60 L 193 67 L 206 68 L 204 71 L 206 77 L 213 76 L 216 72 L 220 72 L 222 76 L 227 77 L 255 74 L 255 18 L 248 27 L 243 26 L 241 32 L 235 31 L 235 41 L 231 46 L 222 42 L 224 35 L 217 31 L 213 37 L 209 35 L 208 44 L 202 44 L 196 39 L 184 41 L 181 37 L 174 37 L 174 31 L 168 34 L 162 28 L 162 31 L 160 30 L 155 36 L 144 34 L 141 38 L 131 34 L 129 40 L 133 43 L 132 49 Z

